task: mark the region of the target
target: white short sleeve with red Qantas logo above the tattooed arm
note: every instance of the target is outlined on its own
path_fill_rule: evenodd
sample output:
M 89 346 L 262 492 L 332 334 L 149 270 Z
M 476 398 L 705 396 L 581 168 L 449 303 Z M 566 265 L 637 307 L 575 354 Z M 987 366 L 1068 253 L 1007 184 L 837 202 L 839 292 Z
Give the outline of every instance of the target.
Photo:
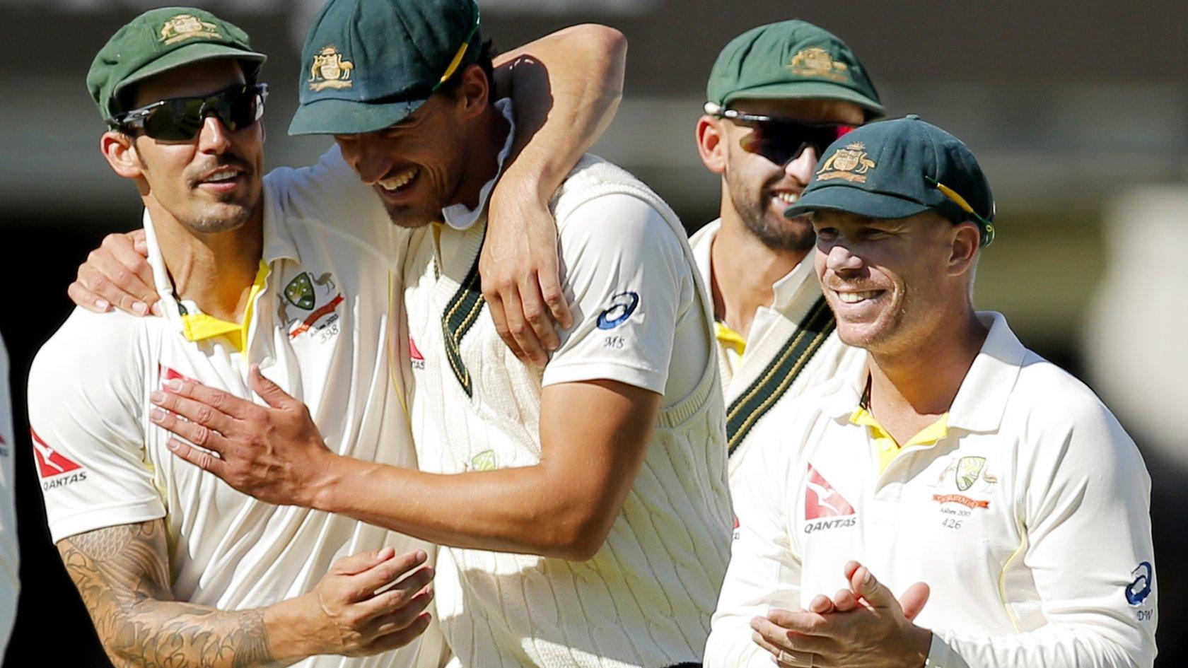
M 144 437 L 132 316 L 76 309 L 29 374 L 33 461 L 55 542 L 165 516 Z

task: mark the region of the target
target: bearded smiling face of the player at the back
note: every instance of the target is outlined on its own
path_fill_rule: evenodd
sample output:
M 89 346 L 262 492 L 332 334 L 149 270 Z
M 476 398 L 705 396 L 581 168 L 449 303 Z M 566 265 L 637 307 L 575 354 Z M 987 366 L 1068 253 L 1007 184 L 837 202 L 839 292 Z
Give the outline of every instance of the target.
M 769 115 L 805 124 L 861 125 L 861 107 L 840 100 L 735 100 L 731 108 L 748 114 Z M 804 216 L 784 218 L 784 209 L 796 202 L 813 178 L 820 156 L 813 147 L 786 166 L 740 146 L 752 132 L 745 125 L 721 119 L 725 150 L 725 179 L 729 202 L 747 231 L 772 250 L 805 251 L 813 247 L 813 227 Z M 822 147 L 823 149 L 823 147 Z

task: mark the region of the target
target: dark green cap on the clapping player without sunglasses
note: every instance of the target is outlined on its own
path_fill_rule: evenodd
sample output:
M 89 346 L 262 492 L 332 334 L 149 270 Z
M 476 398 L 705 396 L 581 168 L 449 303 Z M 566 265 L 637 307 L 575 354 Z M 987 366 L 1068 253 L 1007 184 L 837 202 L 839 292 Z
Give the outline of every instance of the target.
M 994 240 L 994 195 L 978 159 L 960 139 L 915 114 L 865 125 L 830 144 L 784 215 L 819 209 L 874 219 L 934 209 L 953 222 L 977 222 L 982 246 Z

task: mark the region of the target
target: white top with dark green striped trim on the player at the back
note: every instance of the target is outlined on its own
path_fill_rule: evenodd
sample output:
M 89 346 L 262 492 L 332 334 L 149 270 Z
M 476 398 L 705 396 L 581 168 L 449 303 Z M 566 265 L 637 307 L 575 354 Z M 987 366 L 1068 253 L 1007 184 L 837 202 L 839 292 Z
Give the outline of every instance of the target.
M 710 248 L 721 226 L 721 219 L 714 220 L 689 239 L 701 281 L 710 290 L 708 295 L 715 282 L 733 281 L 731 276 L 715 275 L 710 264 Z M 777 281 L 772 290 L 771 305 L 759 307 L 754 313 L 741 354 L 729 342 L 716 340 L 732 490 L 745 484 L 739 479 L 739 470 L 753 443 L 751 433 L 762 422 L 783 420 L 785 407 L 805 390 L 865 364 L 862 351 L 838 338 L 833 313 L 824 303 L 813 269 L 811 252 Z M 713 297 L 709 298 L 713 303 Z

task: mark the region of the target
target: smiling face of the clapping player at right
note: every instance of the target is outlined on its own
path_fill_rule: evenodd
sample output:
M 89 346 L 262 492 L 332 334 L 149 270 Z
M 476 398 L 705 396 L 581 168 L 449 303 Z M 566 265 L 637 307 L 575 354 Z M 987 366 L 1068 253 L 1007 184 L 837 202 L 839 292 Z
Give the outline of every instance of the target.
M 893 354 L 933 336 L 968 301 L 978 228 L 935 212 L 904 219 L 809 214 L 816 272 L 851 346 Z

